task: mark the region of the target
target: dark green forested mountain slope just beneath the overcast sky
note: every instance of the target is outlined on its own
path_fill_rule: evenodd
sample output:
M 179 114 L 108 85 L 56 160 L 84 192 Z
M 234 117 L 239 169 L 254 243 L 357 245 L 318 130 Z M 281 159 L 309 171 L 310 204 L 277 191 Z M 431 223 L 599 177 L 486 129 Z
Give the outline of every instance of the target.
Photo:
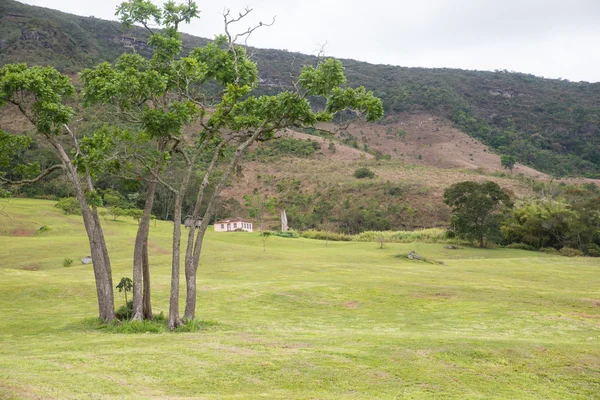
M 13 0 L 0 4 L 0 38 L 0 65 L 49 64 L 68 73 L 114 60 L 132 46 L 142 54 L 150 51 L 141 29 L 124 31 L 116 22 L 27 6 Z M 206 39 L 185 36 L 187 50 L 204 43 Z M 287 87 L 290 72 L 315 62 L 315 57 L 286 51 L 253 49 L 253 53 L 263 92 Z M 389 127 L 410 124 L 403 121 L 407 112 L 425 112 L 431 118 L 440 118 L 446 126 L 451 121 L 453 127 L 481 140 L 495 153 L 515 155 L 525 166 L 555 176 L 600 176 L 598 83 L 549 80 L 507 71 L 343 62 L 349 84 L 364 85 L 384 100 L 392 118 L 386 122 L 390 125 L 384 125 L 386 131 Z M 442 139 L 448 140 L 449 147 L 458 145 L 452 134 Z M 419 146 L 420 143 L 406 143 L 402 150 L 396 147 L 394 152 L 385 144 L 373 145 L 392 158 L 410 157 L 419 151 Z M 473 152 L 458 155 L 457 159 L 454 152 L 447 151 L 448 146 L 440 146 L 438 154 L 433 155 L 436 160 L 439 158 L 436 163 L 440 166 L 493 164 L 490 157 L 479 162 L 477 156 L 468 155 Z M 418 159 L 418 153 L 416 156 Z

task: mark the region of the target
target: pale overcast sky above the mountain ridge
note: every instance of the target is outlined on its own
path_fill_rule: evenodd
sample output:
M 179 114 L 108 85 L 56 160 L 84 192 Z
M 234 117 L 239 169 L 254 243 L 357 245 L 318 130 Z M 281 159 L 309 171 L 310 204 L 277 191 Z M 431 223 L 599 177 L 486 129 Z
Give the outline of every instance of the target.
M 21 0 L 115 19 L 119 0 Z M 155 1 L 160 4 L 160 1 Z M 600 81 L 600 0 L 210 0 L 183 30 L 212 38 L 224 8 L 254 9 L 240 30 L 276 16 L 249 44 L 409 67 L 452 67 Z

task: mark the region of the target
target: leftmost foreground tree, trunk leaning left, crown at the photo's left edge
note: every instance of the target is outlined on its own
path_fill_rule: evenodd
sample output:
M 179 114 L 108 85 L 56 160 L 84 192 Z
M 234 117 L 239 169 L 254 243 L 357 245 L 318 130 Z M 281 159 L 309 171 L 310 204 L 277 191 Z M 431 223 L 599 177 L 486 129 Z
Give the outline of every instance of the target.
M 94 163 L 104 158 L 111 142 L 101 143 L 102 132 L 81 140 L 73 121 L 73 109 L 65 98 L 73 96 L 75 88 L 68 76 L 51 67 L 27 67 L 25 64 L 7 64 L 0 69 L 0 106 L 12 105 L 35 128 L 36 137 L 48 142 L 59 163 L 40 171 L 30 179 L 7 180 L 8 184 L 35 183 L 53 171 L 62 170 L 75 191 L 81 207 L 90 252 L 93 259 L 99 318 L 114 319 L 112 271 L 104 233 L 97 207 L 101 199 L 94 188 Z M 69 126 L 69 124 L 72 124 Z M 94 146 L 89 146 L 93 143 Z M 101 153 L 104 153 L 100 156 Z

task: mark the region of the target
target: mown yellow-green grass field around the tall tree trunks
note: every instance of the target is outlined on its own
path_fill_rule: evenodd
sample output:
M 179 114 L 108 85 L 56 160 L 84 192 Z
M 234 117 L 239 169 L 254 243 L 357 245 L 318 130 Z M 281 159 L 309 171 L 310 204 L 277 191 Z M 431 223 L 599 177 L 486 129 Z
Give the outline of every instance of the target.
M 278 237 L 263 251 L 256 233 L 210 232 L 207 328 L 114 334 L 90 323 L 80 217 L 52 206 L 0 204 L 0 398 L 600 398 L 597 259 Z M 105 227 L 118 282 L 136 226 Z M 168 310 L 171 229 L 151 230 L 155 312 Z M 394 257 L 410 250 L 445 265 Z

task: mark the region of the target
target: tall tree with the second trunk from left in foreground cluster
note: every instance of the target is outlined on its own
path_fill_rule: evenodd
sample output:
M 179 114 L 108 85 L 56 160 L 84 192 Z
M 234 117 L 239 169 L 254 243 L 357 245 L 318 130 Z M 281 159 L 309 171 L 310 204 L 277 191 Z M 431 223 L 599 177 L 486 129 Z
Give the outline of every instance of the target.
M 138 157 L 150 173 L 146 188 L 144 213 L 138 224 L 133 252 L 133 320 L 152 318 L 150 294 L 150 266 L 148 257 L 148 234 L 150 216 L 158 174 L 167 159 L 177 151 L 182 141 L 182 128 L 192 123 L 202 110 L 183 93 L 177 93 L 177 85 L 191 79 L 197 83 L 203 69 L 193 60 L 176 60 L 182 51 L 178 26 L 198 16 L 194 2 L 176 5 L 169 1 L 161 9 L 148 0 L 123 2 L 117 15 L 125 27 L 143 25 L 148 33 L 148 44 L 154 48 L 151 59 L 137 53 L 123 54 L 113 64 L 101 63 L 81 73 L 85 85 L 84 99 L 87 105 L 108 103 L 116 105 L 128 122 L 142 128 L 139 138 L 152 141 L 155 152 Z M 161 31 L 153 31 L 155 23 Z M 183 97 L 183 98 L 182 98 Z

